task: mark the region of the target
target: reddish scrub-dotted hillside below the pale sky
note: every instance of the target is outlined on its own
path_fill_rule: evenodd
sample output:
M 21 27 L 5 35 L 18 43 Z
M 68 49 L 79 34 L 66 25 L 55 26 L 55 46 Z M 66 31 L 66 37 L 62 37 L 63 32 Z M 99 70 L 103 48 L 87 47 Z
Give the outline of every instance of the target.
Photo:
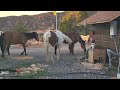
M 58 13 L 58 23 L 62 17 L 62 13 Z M 42 13 L 38 15 L 23 15 L 23 16 L 9 16 L 0 18 L 0 30 L 8 31 L 16 26 L 17 23 L 22 22 L 28 30 L 45 30 L 51 26 L 55 26 L 55 16 L 52 12 Z

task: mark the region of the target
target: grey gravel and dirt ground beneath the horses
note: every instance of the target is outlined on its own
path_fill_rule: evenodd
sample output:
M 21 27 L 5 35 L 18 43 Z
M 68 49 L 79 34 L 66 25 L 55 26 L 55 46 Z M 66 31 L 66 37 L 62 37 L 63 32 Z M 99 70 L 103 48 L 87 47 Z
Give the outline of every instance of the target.
M 105 73 L 105 69 L 102 64 L 91 64 L 80 60 L 83 56 L 83 50 L 79 43 L 75 44 L 75 54 L 70 55 L 68 45 L 63 44 L 61 47 L 61 59 L 56 60 L 55 63 L 46 62 L 46 53 L 44 46 L 27 47 L 28 56 L 20 56 L 23 51 L 22 47 L 11 46 L 8 56 L 6 53 L 6 59 L 0 59 L 0 70 L 20 68 L 21 65 L 42 64 L 47 65 L 47 70 L 51 75 L 35 77 L 35 79 L 113 79 L 115 76 L 110 76 Z M 1 52 L 0 52 L 1 55 Z M 6 77 L 2 77 L 6 79 Z M 7 79 L 13 77 L 7 77 Z M 14 77 L 17 79 L 17 77 Z

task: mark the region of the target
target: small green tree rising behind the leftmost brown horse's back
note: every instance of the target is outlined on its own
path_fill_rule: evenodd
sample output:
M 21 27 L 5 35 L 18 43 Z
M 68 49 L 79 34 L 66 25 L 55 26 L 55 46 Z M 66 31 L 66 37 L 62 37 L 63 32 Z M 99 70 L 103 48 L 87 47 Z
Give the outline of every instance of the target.
M 25 29 L 24 24 L 22 22 L 18 22 L 14 28 L 12 29 L 12 31 L 16 31 L 16 32 L 26 32 L 28 31 L 27 29 Z

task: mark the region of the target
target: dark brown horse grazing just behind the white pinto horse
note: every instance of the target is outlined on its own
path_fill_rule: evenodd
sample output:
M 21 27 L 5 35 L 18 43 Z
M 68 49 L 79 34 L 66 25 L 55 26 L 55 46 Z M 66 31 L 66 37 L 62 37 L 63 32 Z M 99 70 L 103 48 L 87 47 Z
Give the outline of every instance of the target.
M 81 44 L 84 53 L 86 52 L 85 41 L 80 37 L 79 33 L 65 32 L 64 34 L 67 35 L 73 41 L 73 43 L 69 45 L 70 54 L 74 54 L 74 44 L 77 42 Z M 64 43 L 68 44 L 66 41 L 64 41 Z M 56 50 L 57 50 L 57 46 L 55 46 L 55 54 L 56 54 Z

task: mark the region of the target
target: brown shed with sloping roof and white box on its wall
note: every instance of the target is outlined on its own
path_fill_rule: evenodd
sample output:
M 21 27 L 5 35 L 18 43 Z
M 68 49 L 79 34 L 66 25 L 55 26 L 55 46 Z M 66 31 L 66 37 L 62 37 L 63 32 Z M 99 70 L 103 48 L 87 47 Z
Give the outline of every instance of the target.
M 102 49 L 107 48 L 116 51 L 115 41 L 120 48 L 120 11 L 97 11 L 94 15 L 77 24 L 77 26 L 81 25 L 92 25 L 94 27 L 93 39 L 95 48 L 97 51 L 100 50 L 99 54 L 101 54 Z M 99 55 L 98 53 L 95 54 Z

